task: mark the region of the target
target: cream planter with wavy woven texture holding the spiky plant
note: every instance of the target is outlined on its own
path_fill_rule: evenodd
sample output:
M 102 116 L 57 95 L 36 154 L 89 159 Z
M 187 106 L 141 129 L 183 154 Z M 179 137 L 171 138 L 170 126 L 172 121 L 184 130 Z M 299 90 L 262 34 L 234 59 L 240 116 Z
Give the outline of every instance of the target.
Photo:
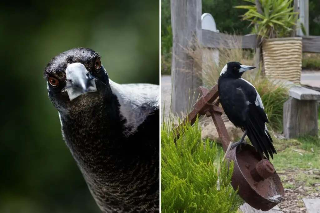
M 265 76 L 300 84 L 302 38 L 267 39 L 262 44 Z

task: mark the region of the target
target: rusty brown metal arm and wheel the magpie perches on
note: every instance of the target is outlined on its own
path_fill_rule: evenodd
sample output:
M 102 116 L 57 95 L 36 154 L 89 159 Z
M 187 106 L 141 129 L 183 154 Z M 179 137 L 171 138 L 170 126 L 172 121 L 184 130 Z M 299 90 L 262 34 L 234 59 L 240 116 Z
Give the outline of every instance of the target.
M 180 125 L 188 121 L 193 125 L 197 115 L 211 117 L 219 134 L 222 148 L 226 152 L 230 143 L 227 128 L 221 118 L 222 110 L 219 107 L 218 86 L 215 85 L 209 91 L 205 87 L 199 87 L 201 98 L 194 104 L 193 110 Z M 179 138 L 179 127 L 175 126 L 176 139 Z M 274 166 L 266 158 L 261 159 L 255 148 L 247 144 L 240 152 L 236 148 L 231 149 L 226 159 L 234 161 L 234 172 L 231 185 L 238 195 L 250 206 L 262 211 L 268 211 L 280 203 L 284 196 L 284 187 Z

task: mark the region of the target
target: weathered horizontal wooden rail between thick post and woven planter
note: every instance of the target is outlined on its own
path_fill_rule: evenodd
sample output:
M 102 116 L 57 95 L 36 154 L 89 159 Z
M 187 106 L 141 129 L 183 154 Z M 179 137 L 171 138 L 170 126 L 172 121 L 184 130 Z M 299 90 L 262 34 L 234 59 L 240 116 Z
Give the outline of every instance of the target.
M 241 36 L 216 33 L 210 30 L 202 30 L 202 44 L 204 47 L 233 49 L 238 48 L 232 46 L 232 44 L 234 44 L 237 41 L 242 43 L 242 49 L 255 49 L 258 43 L 256 34 Z

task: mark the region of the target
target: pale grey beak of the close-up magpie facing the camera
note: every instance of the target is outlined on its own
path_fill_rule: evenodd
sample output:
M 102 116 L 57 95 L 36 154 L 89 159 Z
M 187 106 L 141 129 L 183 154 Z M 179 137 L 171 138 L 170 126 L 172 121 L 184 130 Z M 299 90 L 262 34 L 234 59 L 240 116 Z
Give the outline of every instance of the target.
M 70 101 L 88 92 L 96 92 L 97 87 L 93 76 L 81 63 L 69 64 L 66 69 L 67 92 Z

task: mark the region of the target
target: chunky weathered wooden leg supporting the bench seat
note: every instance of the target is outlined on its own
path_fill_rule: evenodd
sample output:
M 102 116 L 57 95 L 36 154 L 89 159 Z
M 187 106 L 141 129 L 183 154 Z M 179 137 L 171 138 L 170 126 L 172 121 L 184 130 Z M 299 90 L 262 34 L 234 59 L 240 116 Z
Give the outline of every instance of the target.
M 317 101 L 290 97 L 283 106 L 283 133 L 285 138 L 304 135 L 318 136 Z

